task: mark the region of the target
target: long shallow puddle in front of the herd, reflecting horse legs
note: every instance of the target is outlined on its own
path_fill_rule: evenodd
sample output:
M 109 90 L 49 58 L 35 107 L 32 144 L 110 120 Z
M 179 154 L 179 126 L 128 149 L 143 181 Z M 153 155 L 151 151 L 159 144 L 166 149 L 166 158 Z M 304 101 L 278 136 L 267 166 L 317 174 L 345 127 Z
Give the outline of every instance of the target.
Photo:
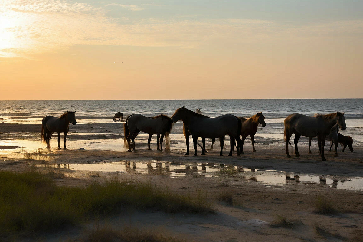
M 49 165 L 29 163 L 37 167 L 45 167 Z M 334 179 L 330 176 L 317 176 L 312 174 L 288 173 L 276 170 L 258 170 L 243 167 L 236 167 L 225 164 L 198 164 L 198 165 L 179 165 L 169 162 L 159 162 L 151 160 L 148 162 L 132 162 L 132 161 L 95 161 L 90 164 L 52 164 L 53 168 L 69 169 L 71 171 L 102 171 L 115 173 L 147 173 L 150 175 L 163 175 L 171 177 L 183 176 L 221 176 L 221 169 L 232 169 L 234 175 L 243 177 L 245 182 L 261 182 L 266 187 L 280 189 L 281 186 L 291 184 L 320 184 L 330 188 L 344 190 L 361 190 L 363 191 L 363 177 L 353 177 L 345 180 Z M 279 187 L 280 186 L 280 187 Z

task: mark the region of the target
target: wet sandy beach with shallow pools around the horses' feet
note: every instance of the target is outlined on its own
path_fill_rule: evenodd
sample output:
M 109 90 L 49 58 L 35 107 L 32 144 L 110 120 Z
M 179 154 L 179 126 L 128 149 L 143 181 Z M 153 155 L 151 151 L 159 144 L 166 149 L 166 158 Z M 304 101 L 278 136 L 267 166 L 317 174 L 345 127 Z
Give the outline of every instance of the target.
M 165 214 L 132 211 L 130 214 L 115 215 L 107 222 L 113 226 L 124 226 L 125 223 L 139 227 L 162 226 L 167 233 L 186 238 L 187 241 L 344 241 L 361 233 L 363 229 L 363 191 L 361 189 L 339 189 L 344 181 L 363 177 L 363 146 L 354 142 L 354 153 L 346 150 L 338 157 L 326 149 L 326 162 L 318 155 L 317 143 L 313 143 L 313 154 L 308 154 L 307 139 L 301 139 L 299 151 L 301 157 L 287 158 L 285 143 L 270 138 L 269 135 L 256 137 L 256 153 L 246 139 L 242 157 L 228 157 L 229 141 L 225 141 L 225 156 L 219 156 L 219 142 L 207 155 L 185 156 L 185 140 L 181 132 L 181 124 L 175 124 L 171 134 L 170 152 L 156 151 L 156 137 L 152 139 L 152 151 L 147 150 L 147 135 L 136 138 L 136 152 L 126 152 L 123 148 L 123 123 L 93 123 L 70 126 L 67 136 L 68 150 L 52 148 L 50 151 L 40 141 L 38 124 L 6 124 L 0 123 L 0 145 L 20 146 L 21 148 L 0 150 L 0 169 L 24 171 L 32 167 L 56 171 L 59 177 L 55 181 L 59 185 L 86 186 L 95 179 L 98 181 L 118 176 L 127 181 L 150 181 L 153 184 L 180 194 L 196 194 L 202 191 L 212 201 L 216 214 L 196 216 L 191 214 Z M 61 147 L 63 140 L 61 136 Z M 56 135 L 51 140 L 52 147 L 57 147 Z M 210 140 L 207 139 L 207 147 Z M 326 148 L 328 143 L 326 143 Z M 84 148 L 84 149 L 80 149 Z M 192 142 L 190 145 L 193 153 Z M 328 148 L 329 149 L 329 148 Z M 28 154 L 32 153 L 30 161 Z M 290 148 L 290 154 L 294 152 Z M 40 156 L 39 156 L 40 155 Z M 126 162 L 126 165 L 125 165 Z M 136 168 L 132 169 L 132 163 Z M 115 170 L 106 172 L 97 168 L 95 171 L 82 170 L 77 165 L 102 165 L 115 163 Z M 128 163 L 130 166 L 127 167 Z M 143 164 L 144 163 L 144 164 Z M 150 172 L 141 169 L 151 164 Z M 158 172 L 157 163 L 162 163 Z M 207 167 L 225 164 L 243 167 L 245 172 L 236 172 L 233 176 L 223 175 L 218 168 L 203 173 L 199 168 L 195 172 L 179 172 L 180 176 L 171 176 L 165 170 L 170 166 Z M 54 164 L 45 166 L 44 164 Z M 59 164 L 59 167 L 58 167 Z M 64 164 L 66 164 L 64 166 Z M 143 164 L 143 165 L 142 165 Z M 42 168 L 44 166 L 44 168 Z M 74 169 L 73 169 L 73 168 Z M 140 168 L 139 168 L 140 167 Z M 76 169 L 77 168 L 77 169 Z M 209 168 L 208 168 L 209 169 Z M 256 172 L 256 175 L 252 175 Z M 272 173 L 269 173 L 273 170 Z M 173 170 L 174 172 L 175 170 Z M 274 173 L 275 172 L 275 173 Z M 258 176 L 276 175 L 276 172 L 291 174 L 291 180 L 284 182 L 263 181 Z M 177 173 L 177 172 L 175 172 Z M 298 182 L 294 175 L 316 175 L 326 178 L 326 182 Z M 253 178 L 255 177 L 255 178 Z M 282 176 L 283 177 L 283 176 Z M 281 178 L 281 176 L 280 176 Z M 279 179 L 280 179 L 279 178 Z M 294 177 L 295 178 L 295 177 Z M 285 177 L 286 179 L 286 177 Z M 329 180 L 333 184 L 329 184 Z M 273 179 L 272 179 L 273 181 Z M 335 185 L 334 186 L 334 182 Z M 224 191 L 233 194 L 236 205 L 229 206 L 216 200 L 217 194 Z M 318 195 L 332 200 L 341 210 L 334 216 L 319 215 L 313 212 L 314 201 Z M 272 225 L 278 215 L 286 215 L 291 221 L 300 220 L 293 229 Z M 92 222 L 84 226 L 92 226 Z M 319 226 L 331 234 L 317 234 L 314 230 Z M 47 240 L 75 239 L 79 229 L 70 229 L 53 235 L 45 235 Z M 340 234 L 333 236 L 333 234 Z

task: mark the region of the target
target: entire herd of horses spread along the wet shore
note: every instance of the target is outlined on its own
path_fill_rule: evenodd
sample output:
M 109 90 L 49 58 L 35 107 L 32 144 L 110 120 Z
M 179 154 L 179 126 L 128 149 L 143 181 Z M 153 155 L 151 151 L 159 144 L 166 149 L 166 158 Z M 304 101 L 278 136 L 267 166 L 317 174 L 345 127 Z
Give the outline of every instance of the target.
M 76 118 L 74 112 L 65 112 L 56 118 L 53 116 L 46 116 L 42 120 L 42 140 L 46 144 L 47 148 L 50 148 L 50 138 L 54 132 L 58 134 L 58 148 L 60 148 L 60 134 L 64 133 L 64 149 L 66 149 L 66 136 L 69 132 L 69 123 L 75 125 Z M 117 112 L 113 118 L 116 122 L 116 118 L 122 120 L 123 114 Z M 150 148 L 150 142 L 152 135 L 156 134 L 158 150 L 163 150 L 163 140 L 166 137 L 166 149 L 170 148 L 170 132 L 172 128 L 172 123 L 176 123 L 179 120 L 183 121 L 183 134 L 185 136 L 185 141 L 187 144 L 187 152 L 185 155 L 189 155 L 189 137 L 192 136 L 194 155 L 197 155 L 197 143 L 198 138 L 202 139 L 202 155 L 205 154 L 205 139 L 212 139 L 212 146 L 216 138 L 219 138 L 220 143 L 220 155 L 223 156 L 224 147 L 224 136 L 228 135 L 230 142 L 230 152 L 228 156 L 232 156 L 234 147 L 237 148 L 237 156 L 243 152 L 244 141 L 247 136 L 251 137 L 253 152 L 256 152 L 254 147 L 254 135 L 257 132 L 258 125 L 261 124 L 262 127 L 266 126 L 265 117 L 262 112 L 257 112 L 250 118 L 237 117 L 232 114 L 225 114 L 218 116 L 216 118 L 210 118 L 204 115 L 200 109 L 193 112 L 187 108 L 178 108 L 171 117 L 167 115 L 158 115 L 152 118 L 146 117 L 141 114 L 129 115 L 124 124 L 125 141 L 124 145 L 131 152 L 130 141 L 133 143 L 133 150 L 135 151 L 135 138 L 139 132 L 144 132 L 149 134 L 148 138 L 148 149 Z M 291 135 L 295 135 L 295 155 L 299 157 L 298 151 L 298 141 L 301 136 L 309 137 L 309 153 L 311 153 L 311 139 L 313 137 L 318 138 L 318 147 L 321 154 L 322 160 L 326 161 L 324 156 L 324 146 L 325 140 L 331 140 L 332 145 L 335 145 L 335 155 L 337 156 L 338 143 L 344 145 L 344 149 L 348 145 L 351 152 L 352 148 L 352 138 L 349 136 L 344 136 L 338 133 L 339 129 L 346 130 L 347 126 L 345 123 L 344 112 L 334 112 L 331 114 L 316 114 L 313 117 L 306 116 L 303 114 L 291 114 L 284 120 L 284 140 L 286 142 L 286 154 L 287 157 L 291 157 L 289 154 L 289 144 Z M 237 145 L 236 145 L 237 142 Z M 342 152 L 344 152 L 344 149 Z

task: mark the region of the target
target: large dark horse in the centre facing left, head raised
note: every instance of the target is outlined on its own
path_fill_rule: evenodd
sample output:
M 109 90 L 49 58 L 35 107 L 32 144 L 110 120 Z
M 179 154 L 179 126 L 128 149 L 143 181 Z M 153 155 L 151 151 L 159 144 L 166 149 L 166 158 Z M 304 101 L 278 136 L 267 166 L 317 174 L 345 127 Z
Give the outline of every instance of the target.
M 202 138 L 203 149 L 202 155 L 205 155 L 205 138 L 220 138 L 221 144 L 220 155 L 223 156 L 223 136 L 229 135 L 231 140 L 237 140 L 237 156 L 240 156 L 239 147 L 241 144 L 241 120 L 232 114 L 221 115 L 217 118 L 209 118 L 202 114 L 197 114 L 187 108 L 178 108 L 171 116 L 173 123 L 183 120 L 183 124 L 187 127 L 188 132 L 192 135 L 194 155 L 197 155 L 197 140 L 198 137 Z M 231 143 L 231 152 L 229 156 L 232 156 L 233 145 Z

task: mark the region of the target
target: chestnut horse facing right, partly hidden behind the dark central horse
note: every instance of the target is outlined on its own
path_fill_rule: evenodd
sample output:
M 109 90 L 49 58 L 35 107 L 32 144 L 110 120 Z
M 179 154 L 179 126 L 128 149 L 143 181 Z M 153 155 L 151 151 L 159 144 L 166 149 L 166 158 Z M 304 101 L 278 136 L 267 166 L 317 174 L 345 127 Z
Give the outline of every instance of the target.
M 243 152 L 243 144 L 245 143 L 246 137 L 249 135 L 251 137 L 252 142 L 252 149 L 253 152 L 256 152 L 256 149 L 254 148 L 254 135 L 257 133 L 257 127 L 258 124 L 262 124 L 262 127 L 266 126 L 265 123 L 265 117 L 262 115 L 262 112 L 256 112 L 255 115 L 253 115 L 250 118 L 244 118 L 244 117 L 238 117 L 241 119 L 242 122 L 242 128 L 241 128 L 241 135 L 242 135 L 242 145 L 241 145 L 241 153 Z M 212 146 L 213 146 L 214 140 L 212 140 Z

